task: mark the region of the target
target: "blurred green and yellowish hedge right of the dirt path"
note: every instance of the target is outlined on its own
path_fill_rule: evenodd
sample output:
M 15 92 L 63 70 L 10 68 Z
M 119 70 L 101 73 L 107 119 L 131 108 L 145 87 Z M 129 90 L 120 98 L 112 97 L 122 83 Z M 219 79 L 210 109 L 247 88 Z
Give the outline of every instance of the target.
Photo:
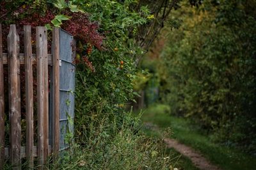
M 182 26 L 162 54 L 162 97 L 172 114 L 191 116 L 215 139 L 256 146 L 255 1 L 204 1 L 180 8 Z M 182 13 L 186 15 L 182 15 Z M 161 66 L 163 66 L 161 65 Z

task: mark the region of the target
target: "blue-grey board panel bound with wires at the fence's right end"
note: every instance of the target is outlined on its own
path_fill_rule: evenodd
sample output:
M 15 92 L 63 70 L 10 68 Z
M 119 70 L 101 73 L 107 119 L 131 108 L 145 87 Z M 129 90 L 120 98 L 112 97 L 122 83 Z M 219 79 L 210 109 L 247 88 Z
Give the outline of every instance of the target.
M 60 29 L 60 150 L 68 148 L 65 136 L 74 132 L 75 66 L 72 64 L 73 36 Z

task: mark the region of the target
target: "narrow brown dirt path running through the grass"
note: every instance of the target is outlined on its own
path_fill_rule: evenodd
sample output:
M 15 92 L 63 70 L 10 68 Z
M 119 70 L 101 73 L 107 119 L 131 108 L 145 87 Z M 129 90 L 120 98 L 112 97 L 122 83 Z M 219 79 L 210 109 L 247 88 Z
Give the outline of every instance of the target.
M 160 133 L 159 128 L 156 125 L 153 125 L 152 123 L 145 123 L 145 126 L 150 128 L 151 130 L 157 131 Z M 189 146 L 186 146 L 185 144 L 179 143 L 179 141 L 175 139 L 169 139 L 164 138 L 164 143 L 167 144 L 168 148 L 174 148 L 176 151 L 179 151 L 182 155 L 188 157 L 193 164 L 202 170 L 220 170 L 220 167 L 214 166 L 207 160 L 205 157 L 203 157 L 198 151 L 193 150 Z

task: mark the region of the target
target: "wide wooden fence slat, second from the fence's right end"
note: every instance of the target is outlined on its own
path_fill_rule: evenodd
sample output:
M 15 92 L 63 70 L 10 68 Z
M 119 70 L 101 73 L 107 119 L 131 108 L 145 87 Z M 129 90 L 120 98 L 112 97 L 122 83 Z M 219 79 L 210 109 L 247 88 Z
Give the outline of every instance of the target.
M 45 57 L 46 56 L 46 57 Z M 38 164 L 40 169 L 44 169 L 45 157 L 45 138 L 44 134 L 45 115 L 48 110 L 45 110 L 45 95 L 48 97 L 48 89 L 45 89 L 45 58 L 47 58 L 47 34 L 45 27 L 36 27 L 36 68 L 37 68 L 37 118 L 38 118 Z M 48 118 L 48 116 L 47 116 Z M 47 146 L 48 150 L 48 146 Z

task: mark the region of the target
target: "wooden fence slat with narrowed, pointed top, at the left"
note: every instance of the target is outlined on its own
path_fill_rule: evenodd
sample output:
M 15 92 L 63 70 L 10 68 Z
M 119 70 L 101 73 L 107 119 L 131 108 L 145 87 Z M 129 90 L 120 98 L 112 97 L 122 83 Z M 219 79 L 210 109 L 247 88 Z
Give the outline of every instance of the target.
M 8 35 L 8 75 L 10 106 L 10 157 L 13 169 L 20 169 L 20 61 L 19 35 L 14 24 Z

